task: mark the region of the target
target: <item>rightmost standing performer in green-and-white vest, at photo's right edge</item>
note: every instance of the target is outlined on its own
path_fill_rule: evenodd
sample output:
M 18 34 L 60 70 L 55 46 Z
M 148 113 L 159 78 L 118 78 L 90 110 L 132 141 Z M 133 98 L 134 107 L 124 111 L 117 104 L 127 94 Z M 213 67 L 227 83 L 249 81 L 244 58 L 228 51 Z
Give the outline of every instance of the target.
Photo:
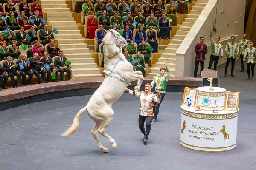
M 253 41 L 250 41 L 249 47 L 246 48 L 244 51 L 244 61 L 246 61 L 247 63 L 247 74 L 248 74 L 247 79 L 250 79 L 250 69 L 252 70 L 252 78 L 250 80 L 253 80 L 253 76 L 254 76 L 255 56 L 256 56 L 256 48 L 253 47 Z

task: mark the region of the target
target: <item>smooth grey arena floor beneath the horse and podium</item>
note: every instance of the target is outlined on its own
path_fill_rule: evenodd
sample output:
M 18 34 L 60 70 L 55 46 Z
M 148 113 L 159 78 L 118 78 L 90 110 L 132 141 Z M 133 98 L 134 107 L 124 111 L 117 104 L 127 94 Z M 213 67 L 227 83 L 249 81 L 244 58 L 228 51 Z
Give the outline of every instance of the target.
M 143 145 L 138 128 L 139 99 L 123 94 L 113 104 L 115 115 L 107 128 L 117 149 L 113 150 L 99 135 L 109 149 L 109 153 L 102 153 L 90 134 L 94 122 L 86 112 L 76 133 L 70 138 L 61 136 L 90 99 L 76 96 L 1 111 L 0 170 L 256 170 L 256 80 L 246 80 L 246 72 L 238 71 L 239 63 L 236 62 L 236 77 L 224 78 L 224 65 L 218 68 L 218 86 L 241 92 L 234 150 L 204 153 L 182 147 L 179 141 L 183 93 L 168 92 L 157 122 L 153 122 L 148 145 Z

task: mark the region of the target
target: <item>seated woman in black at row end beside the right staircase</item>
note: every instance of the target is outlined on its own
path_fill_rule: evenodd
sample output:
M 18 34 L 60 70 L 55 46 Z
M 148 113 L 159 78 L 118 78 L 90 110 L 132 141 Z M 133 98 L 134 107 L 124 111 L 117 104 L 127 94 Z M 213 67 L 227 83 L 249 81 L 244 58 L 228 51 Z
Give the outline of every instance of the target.
M 168 39 L 170 37 L 170 29 L 172 29 L 172 27 L 169 25 L 169 21 L 167 20 L 164 12 L 162 13 L 162 17 L 159 19 L 159 27 L 159 39 Z

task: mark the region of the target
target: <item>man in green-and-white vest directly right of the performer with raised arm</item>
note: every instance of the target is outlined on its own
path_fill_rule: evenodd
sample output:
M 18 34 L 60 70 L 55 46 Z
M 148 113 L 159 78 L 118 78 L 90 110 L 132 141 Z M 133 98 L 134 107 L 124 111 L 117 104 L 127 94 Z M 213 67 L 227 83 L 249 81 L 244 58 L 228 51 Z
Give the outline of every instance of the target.
M 225 73 L 224 76 L 227 76 L 227 68 L 231 60 L 231 76 L 235 77 L 233 74 L 234 72 L 234 67 L 235 67 L 235 60 L 238 60 L 238 53 L 239 53 L 239 48 L 238 48 L 238 43 L 235 42 L 236 37 L 231 36 L 231 42 L 227 42 L 226 48 L 225 48 L 225 59 L 227 60 L 226 66 L 225 66 Z

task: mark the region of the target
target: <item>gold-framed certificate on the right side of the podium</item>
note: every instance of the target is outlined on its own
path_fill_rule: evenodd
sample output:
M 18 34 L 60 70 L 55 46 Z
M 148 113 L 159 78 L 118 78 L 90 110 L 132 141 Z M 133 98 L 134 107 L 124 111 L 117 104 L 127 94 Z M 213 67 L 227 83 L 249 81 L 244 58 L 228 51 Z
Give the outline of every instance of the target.
M 239 92 L 226 91 L 225 110 L 238 111 Z

